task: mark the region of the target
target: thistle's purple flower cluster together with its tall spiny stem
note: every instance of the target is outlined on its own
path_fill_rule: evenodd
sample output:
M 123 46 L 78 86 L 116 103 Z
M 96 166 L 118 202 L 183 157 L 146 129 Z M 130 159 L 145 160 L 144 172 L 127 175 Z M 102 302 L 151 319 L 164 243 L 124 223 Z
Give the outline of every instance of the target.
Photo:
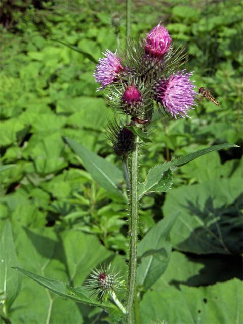
M 168 30 L 159 23 L 144 39 L 136 43 L 129 39 L 126 53 L 118 55 L 117 51 L 106 50 L 94 73 L 100 84 L 98 90 L 105 88 L 108 105 L 119 113 L 113 122 L 109 121 L 107 132 L 115 154 L 123 159 L 127 180 L 130 244 L 125 308 L 129 323 L 133 322 L 137 271 L 141 142 L 148 136 L 154 103 L 161 114 L 172 118 L 185 118 L 195 106 L 197 92 L 190 80 L 193 73 L 181 70 L 185 57 L 183 50 L 175 49 Z M 109 293 L 103 286 L 98 291 L 101 296 Z

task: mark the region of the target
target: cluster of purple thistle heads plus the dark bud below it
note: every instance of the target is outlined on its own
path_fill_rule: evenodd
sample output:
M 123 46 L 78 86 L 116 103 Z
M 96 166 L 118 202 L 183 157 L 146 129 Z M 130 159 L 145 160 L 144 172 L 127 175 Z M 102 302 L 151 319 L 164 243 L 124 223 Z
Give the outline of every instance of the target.
M 96 82 L 101 85 L 98 90 L 105 87 L 108 90 L 110 106 L 130 115 L 130 125 L 135 125 L 136 120 L 141 120 L 140 124 L 145 124 L 146 120 L 149 124 L 154 101 L 160 112 L 173 118 L 188 116 L 197 95 L 190 80 L 193 73 L 180 71 L 185 54 L 174 48 L 168 30 L 159 23 L 137 45 L 129 44 L 123 60 L 117 52 L 106 50 L 94 73 Z M 113 132 L 116 136 L 112 140 L 113 147 L 118 155 L 131 151 L 130 132 L 126 124 Z

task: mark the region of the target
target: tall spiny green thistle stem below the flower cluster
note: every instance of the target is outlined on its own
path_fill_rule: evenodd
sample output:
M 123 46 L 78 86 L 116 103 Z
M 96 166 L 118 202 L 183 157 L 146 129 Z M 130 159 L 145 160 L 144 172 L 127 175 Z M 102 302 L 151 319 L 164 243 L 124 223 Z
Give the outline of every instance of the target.
M 139 139 L 135 138 L 135 149 L 131 157 L 130 176 L 130 246 L 129 246 L 129 270 L 128 270 L 128 290 L 127 290 L 127 322 L 133 322 L 133 299 L 136 284 L 137 272 L 137 240 L 138 240 L 138 148 Z

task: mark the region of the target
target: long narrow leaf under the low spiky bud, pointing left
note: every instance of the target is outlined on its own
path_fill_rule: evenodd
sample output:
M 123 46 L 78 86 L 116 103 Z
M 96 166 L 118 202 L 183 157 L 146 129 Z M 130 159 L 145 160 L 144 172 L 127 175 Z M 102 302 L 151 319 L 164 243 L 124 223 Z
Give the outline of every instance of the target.
M 117 314 L 119 314 L 120 312 L 118 307 L 116 307 L 114 304 L 110 302 L 100 303 L 96 301 L 94 298 L 91 298 L 90 291 L 87 290 L 87 288 L 85 287 L 82 286 L 71 287 L 65 282 L 48 279 L 43 276 L 29 272 L 27 270 L 21 269 L 19 267 L 14 267 L 14 269 L 20 271 L 27 277 L 37 282 L 39 285 L 42 285 L 43 287 L 47 288 L 48 290 L 57 294 L 58 296 L 73 300 L 75 302 L 83 303 L 86 305 L 99 306 L 105 308 L 106 310 L 109 310 L 109 312 L 111 313 L 116 312 Z

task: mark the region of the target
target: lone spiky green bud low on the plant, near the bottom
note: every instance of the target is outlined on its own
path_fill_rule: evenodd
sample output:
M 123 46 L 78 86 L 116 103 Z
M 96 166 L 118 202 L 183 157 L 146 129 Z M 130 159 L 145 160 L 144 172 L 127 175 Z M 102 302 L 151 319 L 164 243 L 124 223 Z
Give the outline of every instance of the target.
M 124 280 L 118 275 L 119 273 L 114 274 L 111 270 L 111 264 L 108 267 L 100 266 L 99 269 L 92 270 L 85 285 L 91 291 L 91 296 L 97 295 L 100 301 L 107 300 L 114 290 L 119 290 L 124 285 Z

